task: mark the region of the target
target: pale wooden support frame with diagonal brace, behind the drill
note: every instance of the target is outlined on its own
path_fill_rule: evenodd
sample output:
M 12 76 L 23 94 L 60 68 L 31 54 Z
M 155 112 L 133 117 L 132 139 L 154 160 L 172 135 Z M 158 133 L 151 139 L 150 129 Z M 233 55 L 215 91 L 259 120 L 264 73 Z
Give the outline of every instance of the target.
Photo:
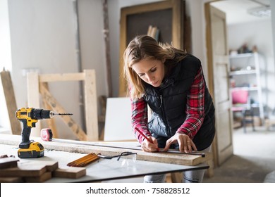
M 52 110 L 59 113 L 66 113 L 66 110 L 56 99 L 51 96 L 47 88 L 48 82 L 66 82 L 66 81 L 83 81 L 85 96 L 85 122 L 87 131 L 84 132 L 75 121 L 68 116 L 61 117 L 68 127 L 71 128 L 75 136 L 82 141 L 98 141 L 98 120 L 97 120 L 97 91 L 94 70 L 84 70 L 80 73 L 66 74 L 44 74 L 38 75 L 37 72 L 27 73 L 27 101 L 28 106 L 39 108 L 39 93 Z M 35 128 L 32 128 L 32 135 L 39 136 L 41 126 L 39 122 Z M 57 134 L 56 134 L 57 135 Z

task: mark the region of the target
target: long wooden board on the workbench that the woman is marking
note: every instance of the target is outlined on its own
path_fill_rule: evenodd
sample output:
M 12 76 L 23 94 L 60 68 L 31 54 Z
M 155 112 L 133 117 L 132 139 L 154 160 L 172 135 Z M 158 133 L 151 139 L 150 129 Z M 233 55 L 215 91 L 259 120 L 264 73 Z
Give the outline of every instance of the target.
M 60 143 L 54 141 L 42 141 L 39 138 L 33 137 L 35 141 L 39 141 L 44 148 L 56 151 L 66 151 L 71 153 L 102 153 L 102 155 L 109 155 L 114 156 L 118 155 L 125 151 L 132 151 L 137 153 L 137 160 L 147 160 L 159 163 L 171 163 L 171 164 L 179 164 L 179 165 L 198 165 L 200 163 L 204 163 L 207 160 L 212 159 L 211 153 L 206 153 L 205 157 L 203 158 L 200 155 L 185 155 L 181 153 L 147 153 L 144 151 L 140 151 L 137 147 L 120 147 L 114 148 L 111 147 L 104 147 L 108 146 L 107 143 L 92 143 L 85 141 L 83 145 L 83 141 L 71 141 L 66 140 L 68 143 Z M 0 134 L 0 144 L 11 144 L 17 145 L 20 142 L 20 136 L 16 135 L 8 135 L 8 134 Z M 71 142 L 71 143 L 69 143 Z M 90 145 L 88 145 L 90 144 Z M 97 146 L 95 146 L 97 145 Z M 101 146 L 103 145 L 103 146 Z

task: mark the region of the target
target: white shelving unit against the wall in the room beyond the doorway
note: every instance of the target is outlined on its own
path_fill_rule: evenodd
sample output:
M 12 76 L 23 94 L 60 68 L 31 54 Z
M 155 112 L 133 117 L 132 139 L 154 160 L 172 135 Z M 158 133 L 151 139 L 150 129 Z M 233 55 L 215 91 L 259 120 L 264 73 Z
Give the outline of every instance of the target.
M 229 57 L 231 90 L 245 89 L 252 99 L 252 108 L 264 123 L 264 107 L 259 65 L 259 53 L 242 53 Z

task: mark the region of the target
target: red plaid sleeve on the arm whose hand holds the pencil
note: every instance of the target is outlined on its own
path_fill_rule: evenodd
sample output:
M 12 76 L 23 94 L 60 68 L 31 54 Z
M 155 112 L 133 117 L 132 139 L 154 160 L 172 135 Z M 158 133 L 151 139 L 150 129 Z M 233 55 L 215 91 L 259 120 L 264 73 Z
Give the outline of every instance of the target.
M 132 126 L 135 137 L 138 139 L 140 144 L 144 140 L 144 137 L 136 131 L 135 128 L 138 128 L 145 136 L 151 136 L 151 133 L 148 130 L 148 115 L 147 115 L 147 103 L 143 98 L 132 99 L 131 108 L 132 108 Z

